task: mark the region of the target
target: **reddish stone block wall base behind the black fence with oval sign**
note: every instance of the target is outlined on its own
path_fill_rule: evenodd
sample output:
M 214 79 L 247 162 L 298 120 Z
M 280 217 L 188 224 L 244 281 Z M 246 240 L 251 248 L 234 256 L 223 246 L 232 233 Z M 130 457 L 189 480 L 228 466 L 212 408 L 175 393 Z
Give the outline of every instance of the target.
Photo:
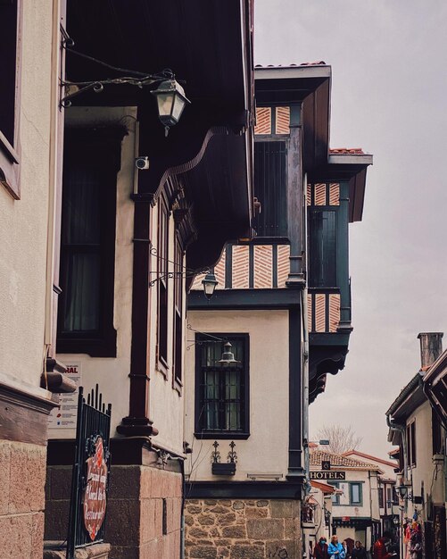
M 67 537 L 70 466 L 48 466 L 46 539 Z M 182 476 L 145 465 L 112 466 L 104 538 L 110 559 L 178 559 Z

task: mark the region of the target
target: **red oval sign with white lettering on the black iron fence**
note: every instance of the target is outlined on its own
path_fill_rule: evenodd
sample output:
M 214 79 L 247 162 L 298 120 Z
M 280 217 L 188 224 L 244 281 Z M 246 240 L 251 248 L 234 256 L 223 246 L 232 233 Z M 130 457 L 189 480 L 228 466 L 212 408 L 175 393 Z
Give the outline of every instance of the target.
M 84 525 L 95 541 L 105 516 L 107 464 L 104 460 L 103 438 L 95 441 L 95 454 L 87 459 L 87 487 L 84 493 Z

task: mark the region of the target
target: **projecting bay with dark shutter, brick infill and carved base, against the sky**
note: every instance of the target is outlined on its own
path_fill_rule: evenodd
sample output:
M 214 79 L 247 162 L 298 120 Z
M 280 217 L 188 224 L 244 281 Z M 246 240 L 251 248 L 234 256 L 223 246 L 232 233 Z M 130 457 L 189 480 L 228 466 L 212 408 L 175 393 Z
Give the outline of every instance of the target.
M 327 163 L 316 171 L 308 173 L 308 195 L 311 189 L 326 188 L 326 203 L 321 201 L 313 204 L 315 194 L 308 205 L 309 223 L 309 251 L 308 256 L 308 305 L 310 308 L 310 402 L 325 391 L 327 374 L 337 374 L 344 369 L 348 354 L 349 339 L 352 332 L 351 325 L 351 285 L 349 276 L 349 247 L 348 224 L 360 221 L 362 218 L 365 196 L 366 173 L 368 165 L 372 164 L 372 155 L 350 152 L 354 150 L 336 150 L 337 154 L 329 154 Z M 355 150 L 360 152 L 360 150 Z M 343 153 L 340 153 L 343 152 Z M 326 187 L 323 187 L 326 185 Z M 338 199 L 335 205 L 330 202 L 331 188 L 338 188 Z M 322 204 L 322 205 L 321 205 Z M 312 219 L 319 217 L 319 220 Z M 333 227 L 329 227 L 328 218 L 332 217 Z M 327 221 L 325 229 L 319 228 L 321 238 L 312 240 L 316 234 L 316 225 Z M 332 222 L 331 221 L 331 222 Z M 328 237 L 333 232 L 331 238 Z M 324 235 L 326 234 L 326 237 Z M 328 249 L 332 239 L 332 258 L 328 259 Z M 326 243 L 326 244 L 325 244 Z M 312 278 L 312 248 L 313 245 L 323 246 L 326 251 L 326 270 L 322 275 L 323 281 Z M 329 254 L 330 255 L 330 254 Z M 318 254 L 318 262 L 323 262 L 323 255 Z M 332 280 L 331 280 L 332 279 Z M 337 308 L 339 311 L 337 312 Z M 338 324 L 332 324 L 334 315 L 339 317 Z M 323 317 L 323 319 L 321 319 Z M 325 320 L 326 318 L 326 320 Z M 326 322 L 326 325 L 321 323 Z M 337 319 L 338 320 L 338 319 Z M 320 323 L 320 324 L 319 324 Z M 331 328 L 332 325 L 332 328 Z

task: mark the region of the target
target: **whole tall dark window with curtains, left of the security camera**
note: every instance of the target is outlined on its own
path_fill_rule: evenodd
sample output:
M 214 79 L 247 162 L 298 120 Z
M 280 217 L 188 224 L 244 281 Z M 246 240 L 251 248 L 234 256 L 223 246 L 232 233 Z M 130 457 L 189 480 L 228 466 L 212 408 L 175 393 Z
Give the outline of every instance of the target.
M 68 129 L 64 143 L 58 353 L 116 356 L 113 328 L 120 129 Z

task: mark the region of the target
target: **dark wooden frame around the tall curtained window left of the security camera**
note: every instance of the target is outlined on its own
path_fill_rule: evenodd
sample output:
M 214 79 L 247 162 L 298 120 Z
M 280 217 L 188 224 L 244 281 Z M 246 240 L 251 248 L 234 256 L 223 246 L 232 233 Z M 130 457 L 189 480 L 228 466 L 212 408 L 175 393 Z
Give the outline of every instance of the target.
M 115 239 L 116 239 L 116 175 L 120 171 L 121 139 L 123 129 L 66 129 L 64 142 L 64 161 L 74 160 L 82 156 L 82 150 L 95 150 L 95 157 L 103 160 L 107 165 L 111 180 L 114 177 L 113 188 L 111 181 L 101 183 L 101 209 L 103 213 L 103 227 L 101 229 L 101 298 L 99 330 L 89 332 L 62 332 L 62 313 L 64 309 L 64 293 L 59 296 L 58 313 L 58 354 L 87 354 L 92 357 L 116 357 L 116 330 L 113 327 L 114 281 L 115 281 Z M 71 150 L 68 151 L 68 150 Z M 62 186 L 63 199 L 63 186 Z M 63 214 L 62 214 L 63 220 Z M 63 229 L 63 223 L 62 223 Z M 61 285 L 63 274 L 63 259 L 65 248 L 61 245 Z

